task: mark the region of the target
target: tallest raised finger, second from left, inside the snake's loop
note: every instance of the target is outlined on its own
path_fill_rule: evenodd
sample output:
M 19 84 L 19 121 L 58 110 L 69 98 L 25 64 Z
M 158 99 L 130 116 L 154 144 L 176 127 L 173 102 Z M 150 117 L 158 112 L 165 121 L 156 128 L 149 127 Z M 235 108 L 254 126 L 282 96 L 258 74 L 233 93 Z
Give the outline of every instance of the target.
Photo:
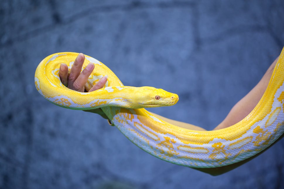
M 69 89 L 72 89 L 72 90 L 75 90 L 75 91 L 79 91 L 80 90 L 80 92 L 84 92 L 84 89 L 83 89 L 83 91 L 81 91 L 82 87 L 79 88 L 78 83 L 76 84 L 75 88 L 73 86 L 74 82 L 76 81 L 76 79 L 78 78 L 78 76 L 81 73 L 84 60 L 85 60 L 85 56 L 83 55 L 83 53 L 80 53 L 77 56 L 76 60 L 74 61 L 74 64 L 71 67 L 71 70 L 70 70 L 70 73 L 69 73 L 69 76 L 68 76 L 68 86 L 67 87 Z

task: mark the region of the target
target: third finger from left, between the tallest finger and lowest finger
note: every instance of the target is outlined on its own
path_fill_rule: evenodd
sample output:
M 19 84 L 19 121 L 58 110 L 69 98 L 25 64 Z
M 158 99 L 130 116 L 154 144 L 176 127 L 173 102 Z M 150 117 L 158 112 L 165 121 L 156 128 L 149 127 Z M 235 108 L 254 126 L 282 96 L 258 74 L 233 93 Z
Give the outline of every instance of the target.
M 88 78 L 90 76 L 90 74 L 93 72 L 94 70 L 94 64 L 93 63 L 89 63 L 87 65 L 87 67 L 85 67 L 85 69 L 81 72 L 81 74 L 77 77 L 77 79 L 75 80 L 75 82 L 73 83 L 73 89 L 75 91 L 80 91 L 80 92 L 84 92 L 85 89 L 85 84 L 88 81 Z

